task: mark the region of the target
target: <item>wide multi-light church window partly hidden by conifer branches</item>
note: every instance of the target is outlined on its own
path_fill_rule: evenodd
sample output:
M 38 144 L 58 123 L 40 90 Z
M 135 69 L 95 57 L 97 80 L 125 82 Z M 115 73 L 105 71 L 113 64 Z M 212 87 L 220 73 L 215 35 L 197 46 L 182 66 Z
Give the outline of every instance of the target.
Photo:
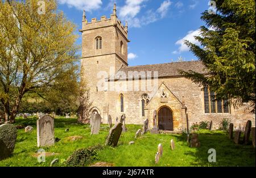
M 216 100 L 216 93 L 204 87 L 204 111 L 205 113 L 229 113 L 228 100 Z

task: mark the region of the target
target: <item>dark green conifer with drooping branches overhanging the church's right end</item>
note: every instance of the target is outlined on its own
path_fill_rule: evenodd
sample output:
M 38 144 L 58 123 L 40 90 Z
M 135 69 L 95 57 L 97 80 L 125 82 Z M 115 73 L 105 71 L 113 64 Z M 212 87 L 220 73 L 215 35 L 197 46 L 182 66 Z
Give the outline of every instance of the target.
M 208 85 L 217 98 L 234 104 L 251 102 L 255 109 L 255 1 L 216 0 L 217 13 L 205 11 L 201 46 L 185 43 L 205 65 L 208 75 L 181 71 L 186 78 Z

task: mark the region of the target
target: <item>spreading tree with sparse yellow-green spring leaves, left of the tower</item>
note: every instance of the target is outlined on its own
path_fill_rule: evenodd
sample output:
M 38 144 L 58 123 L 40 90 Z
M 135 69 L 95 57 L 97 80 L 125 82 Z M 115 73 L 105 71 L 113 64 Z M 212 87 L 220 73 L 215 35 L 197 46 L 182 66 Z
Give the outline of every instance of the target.
M 53 88 L 77 60 L 75 25 L 55 1 L 44 3 L 0 1 L 0 101 L 6 121 L 15 122 L 24 94 Z

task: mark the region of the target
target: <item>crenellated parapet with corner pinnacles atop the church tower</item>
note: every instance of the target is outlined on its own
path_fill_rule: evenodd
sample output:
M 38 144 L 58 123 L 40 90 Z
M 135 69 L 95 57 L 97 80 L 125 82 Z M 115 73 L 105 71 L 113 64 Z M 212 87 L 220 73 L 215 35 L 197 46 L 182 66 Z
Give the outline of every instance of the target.
M 82 30 L 81 32 L 93 30 L 97 28 L 105 28 L 105 27 L 117 27 L 119 31 L 125 36 L 128 40 L 128 25 L 127 22 L 125 25 L 122 24 L 121 20 L 118 19 L 116 14 L 116 7 L 114 5 L 113 14 L 110 15 L 110 18 L 106 18 L 106 16 L 101 16 L 101 19 L 92 18 L 90 22 L 86 19 L 85 11 L 82 15 Z

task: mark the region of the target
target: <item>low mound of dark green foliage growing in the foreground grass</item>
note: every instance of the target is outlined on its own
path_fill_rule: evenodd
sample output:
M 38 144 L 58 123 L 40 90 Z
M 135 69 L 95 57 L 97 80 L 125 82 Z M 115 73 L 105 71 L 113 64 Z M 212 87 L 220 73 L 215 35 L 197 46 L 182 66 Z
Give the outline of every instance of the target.
M 70 167 L 81 167 L 92 163 L 93 160 L 98 159 L 98 151 L 102 150 L 100 144 L 88 148 L 83 148 L 73 152 L 67 160 L 67 165 Z

